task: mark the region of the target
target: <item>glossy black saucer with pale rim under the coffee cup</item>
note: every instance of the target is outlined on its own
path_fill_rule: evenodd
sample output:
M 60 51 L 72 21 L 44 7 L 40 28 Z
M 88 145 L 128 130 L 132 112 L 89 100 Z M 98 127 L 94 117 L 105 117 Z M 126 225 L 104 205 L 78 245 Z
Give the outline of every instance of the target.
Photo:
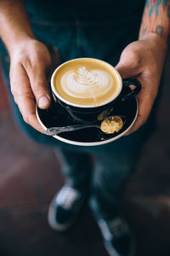
M 126 121 L 122 129 L 113 134 L 105 134 L 99 128 L 85 128 L 77 131 L 67 131 L 55 135 L 54 138 L 61 142 L 69 143 L 78 146 L 97 146 L 105 143 L 111 143 L 122 137 L 132 126 L 137 119 L 139 111 L 138 101 L 136 97 L 128 99 L 124 102 L 115 102 L 110 115 L 125 116 Z M 49 127 L 77 125 L 71 119 L 70 114 L 59 105 L 54 103 L 53 97 L 51 105 L 48 109 L 40 109 L 36 107 L 37 119 L 46 131 Z

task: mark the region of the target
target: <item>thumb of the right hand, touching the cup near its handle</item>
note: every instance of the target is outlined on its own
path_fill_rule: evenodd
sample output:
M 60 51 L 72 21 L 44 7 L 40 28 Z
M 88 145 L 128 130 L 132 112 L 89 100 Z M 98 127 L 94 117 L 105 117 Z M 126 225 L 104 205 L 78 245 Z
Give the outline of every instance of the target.
M 139 56 L 132 51 L 122 52 L 120 61 L 116 65 L 116 70 L 122 76 L 122 79 L 128 79 L 139 75 L 142 72 Z

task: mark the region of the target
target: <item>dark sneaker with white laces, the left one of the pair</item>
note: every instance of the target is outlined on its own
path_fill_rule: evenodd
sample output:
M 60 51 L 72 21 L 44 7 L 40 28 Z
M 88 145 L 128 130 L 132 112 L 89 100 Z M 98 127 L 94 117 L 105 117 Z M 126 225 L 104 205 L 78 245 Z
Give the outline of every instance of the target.
M 67 230 L 75 222 L 87 196 L 72 187 L 64 186 L 54 195 L 48 208 L 48 224 L 54 230 Z

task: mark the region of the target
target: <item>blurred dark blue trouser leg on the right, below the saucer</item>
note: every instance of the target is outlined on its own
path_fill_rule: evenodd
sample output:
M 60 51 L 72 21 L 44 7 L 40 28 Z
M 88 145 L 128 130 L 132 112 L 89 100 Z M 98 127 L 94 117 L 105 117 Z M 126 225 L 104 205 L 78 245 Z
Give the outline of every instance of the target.
M 136 160 L 134 154 L 96 155 L 91 207 L 97 218 L 111 219 L 119 213 L 122 196 Z

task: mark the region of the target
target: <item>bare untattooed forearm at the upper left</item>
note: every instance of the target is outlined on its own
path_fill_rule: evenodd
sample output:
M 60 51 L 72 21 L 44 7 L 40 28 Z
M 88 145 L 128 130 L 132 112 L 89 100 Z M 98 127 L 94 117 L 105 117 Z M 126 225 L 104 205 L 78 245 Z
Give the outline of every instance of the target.
M 22 0 L 0 1 L 0 37 L 8 52 L 27 38 L 34 38 L 25 4 Z

